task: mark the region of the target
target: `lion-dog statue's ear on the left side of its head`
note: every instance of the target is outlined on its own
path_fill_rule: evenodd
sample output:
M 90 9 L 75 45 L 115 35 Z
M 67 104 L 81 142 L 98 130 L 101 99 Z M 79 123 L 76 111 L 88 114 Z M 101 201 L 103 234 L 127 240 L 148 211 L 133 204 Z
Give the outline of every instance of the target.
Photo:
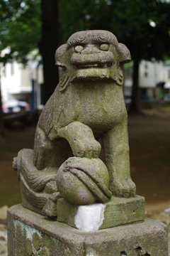
M 66 52 L 67 52 L 67 44 L 64 44 L 59 48 L 57 48 L 55 52 L 55 65 L 62 68 L 66 68 L 66 65 L 67 65 Z

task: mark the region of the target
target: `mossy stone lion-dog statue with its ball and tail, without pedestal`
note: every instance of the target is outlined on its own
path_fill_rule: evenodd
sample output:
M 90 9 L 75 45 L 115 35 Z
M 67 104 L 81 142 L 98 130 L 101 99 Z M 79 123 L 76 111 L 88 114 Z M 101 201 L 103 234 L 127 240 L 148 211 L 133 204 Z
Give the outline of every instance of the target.
M 34 149 L 13 161 L 23 206 L 56 216 L 60 198 L 83 206 L 135 197 L 122 87 L 128 48 L 111 32 L 81 31 L 55 60 L 60 82 L 40 115 Z

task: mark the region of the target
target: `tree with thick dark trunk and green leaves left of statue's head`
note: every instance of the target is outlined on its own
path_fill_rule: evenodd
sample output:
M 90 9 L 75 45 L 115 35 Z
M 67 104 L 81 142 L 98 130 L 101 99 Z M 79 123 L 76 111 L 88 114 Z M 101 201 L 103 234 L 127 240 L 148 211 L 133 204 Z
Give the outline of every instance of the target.
M 28 53 L 39 47 L 44 65 L 45 103 L 58 82 L 55 50 L 60 46 L 61 33 L 57 0 L 0 0 L 0 5 L 0 52 L 10 46 L 10 52 L 0 62 L 15 59 L 26 64 Z

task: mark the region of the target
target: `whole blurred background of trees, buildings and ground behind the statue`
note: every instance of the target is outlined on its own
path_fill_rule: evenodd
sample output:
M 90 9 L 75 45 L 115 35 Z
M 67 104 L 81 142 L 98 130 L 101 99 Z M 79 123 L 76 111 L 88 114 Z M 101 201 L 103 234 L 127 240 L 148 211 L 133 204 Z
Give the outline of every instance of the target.
M 0 0 L 0 207 L 21 203 L 12 159 L 59 80 L 55 50 L 102 29 L 130 49 L 123 66 L 130 163 L 146 214 L 170 223 L 170 1 Z M 1 216 L 0 216 L 1 219 Z

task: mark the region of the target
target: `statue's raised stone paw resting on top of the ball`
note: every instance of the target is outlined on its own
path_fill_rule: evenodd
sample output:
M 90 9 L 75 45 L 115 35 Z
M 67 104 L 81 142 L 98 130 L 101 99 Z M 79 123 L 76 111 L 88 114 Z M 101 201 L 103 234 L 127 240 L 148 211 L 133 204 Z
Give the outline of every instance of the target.
M 73 154 L 77 157 L 97 158 L 101 144 L 96 139 L 74 139 Z

